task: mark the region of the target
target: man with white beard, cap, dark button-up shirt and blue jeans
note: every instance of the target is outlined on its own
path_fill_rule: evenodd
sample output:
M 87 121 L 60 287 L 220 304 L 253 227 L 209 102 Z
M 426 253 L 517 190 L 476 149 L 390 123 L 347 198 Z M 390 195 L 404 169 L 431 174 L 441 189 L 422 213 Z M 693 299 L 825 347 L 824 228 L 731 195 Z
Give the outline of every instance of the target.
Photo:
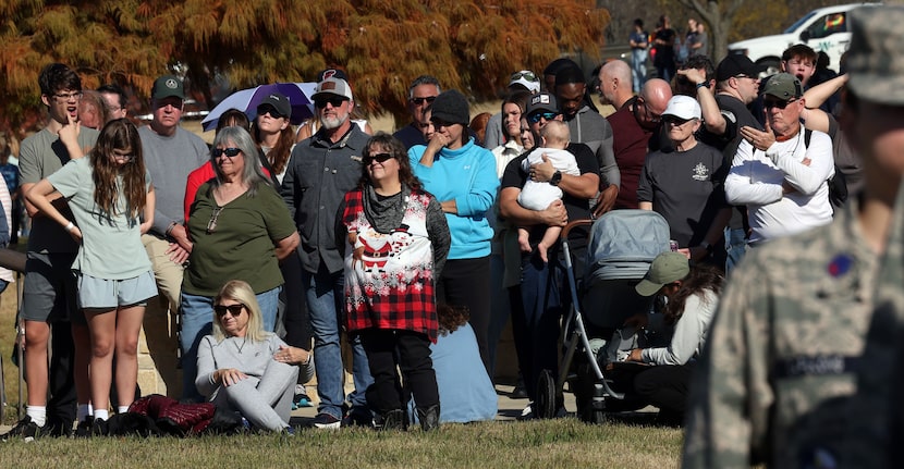
M 334 236 L 337 210 L 345 193 L 357 186 L 362 152 L 370 137 L 349 119 L 355 101 L 344 79 L 323 79 L 313 98 L 320 128 L 292 150 L 280 194 L 302 235 L 298 256 L 314 332 L 314 366 L 320 396 L 314 427 L 334 429 L 342 424 L 343 417 L 346 424 L 369 424 L 372 419 L 364 392 L 374 380 L 357 337 L 350 337 L 355 391 L 351 395 L 352 408 L 343 416 L 339 312 L 344 301 L 344 264 Z

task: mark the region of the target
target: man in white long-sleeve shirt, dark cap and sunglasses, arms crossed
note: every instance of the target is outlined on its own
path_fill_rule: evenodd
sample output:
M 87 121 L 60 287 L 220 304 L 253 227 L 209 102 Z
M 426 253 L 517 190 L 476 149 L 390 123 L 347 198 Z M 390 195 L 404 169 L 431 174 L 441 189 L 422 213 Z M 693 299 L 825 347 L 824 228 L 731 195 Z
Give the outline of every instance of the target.
M 741 127 L 744 141 L 725 178 L 725 197 L 731 205 L 747 206 L 750 246 L 832 221 L 832 140 L 804 131 L 803 92 L 794 75 L 772 75 L 762 91 L 766 129 Z

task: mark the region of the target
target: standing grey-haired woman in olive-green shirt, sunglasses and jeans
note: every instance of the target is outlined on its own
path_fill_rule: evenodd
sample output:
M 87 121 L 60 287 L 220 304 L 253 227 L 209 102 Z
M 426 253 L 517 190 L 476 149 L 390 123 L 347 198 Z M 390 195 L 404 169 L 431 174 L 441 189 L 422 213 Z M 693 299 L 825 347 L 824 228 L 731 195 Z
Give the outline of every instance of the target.
M 279 261 L 298 246 L 295 222 L 261 171 L 247 131 L 225 127 L 210 151 L 216 177 L 198 188 L 186 226 L 192 254 L 182 282 L 185 396 L 194 390 L 197 344 L 210 333 L 213 297 L 230 280 L 243 280 L 260 305 L 264 329 L 272 332 L 283 279 Z

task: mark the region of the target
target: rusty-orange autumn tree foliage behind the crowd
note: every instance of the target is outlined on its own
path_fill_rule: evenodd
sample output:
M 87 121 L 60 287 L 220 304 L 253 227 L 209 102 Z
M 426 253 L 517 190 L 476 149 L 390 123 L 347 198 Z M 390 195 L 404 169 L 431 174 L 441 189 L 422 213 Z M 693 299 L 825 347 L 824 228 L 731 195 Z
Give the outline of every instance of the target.
M 175 71 L 208 103 L 218 73 L 241 89 L 338 66 L 366 112 L 401 116 L 420 74 L 494 98 L 514 71 L 562 52 L 597 57 L 609 22 L 593 0 L 0 0 L 0 15 L 5 126 L 39 110 L 37 75 L 51 61 L 86 87 L 115 82 L 142 97 Z

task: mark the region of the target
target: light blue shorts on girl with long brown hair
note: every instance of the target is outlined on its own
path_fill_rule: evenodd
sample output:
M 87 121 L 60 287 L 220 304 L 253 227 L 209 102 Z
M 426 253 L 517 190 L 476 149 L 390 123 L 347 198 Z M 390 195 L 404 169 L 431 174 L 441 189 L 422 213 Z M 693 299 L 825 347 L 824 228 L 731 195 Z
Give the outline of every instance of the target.
M 157 296 L 154 272 L 124 280 L 105 280 L 77 273 L 78 307 L 112 309 L 119 306 L 145 306 Z

